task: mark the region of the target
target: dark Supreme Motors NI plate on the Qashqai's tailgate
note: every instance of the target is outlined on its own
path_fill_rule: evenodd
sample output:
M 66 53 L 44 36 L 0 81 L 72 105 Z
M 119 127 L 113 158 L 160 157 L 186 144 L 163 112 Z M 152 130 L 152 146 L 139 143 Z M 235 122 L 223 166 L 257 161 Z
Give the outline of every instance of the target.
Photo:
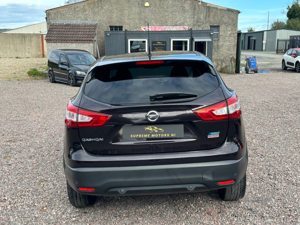
M 183 137 L 183 124 L 123 126 L 123 139 Z

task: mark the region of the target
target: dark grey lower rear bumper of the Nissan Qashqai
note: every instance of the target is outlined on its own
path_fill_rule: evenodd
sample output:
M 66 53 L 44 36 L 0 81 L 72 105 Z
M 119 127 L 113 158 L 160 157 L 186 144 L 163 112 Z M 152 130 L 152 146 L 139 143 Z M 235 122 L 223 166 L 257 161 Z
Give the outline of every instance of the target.
M 71 168 L 64 163 L 70 186 L 89 195 L 115 196 L 198 192 L 219 189 L 238 182 L 246 172 L 247 151 L 237 160 L 213 162 Z M 216 182 L 235 180 L 219 185 Z M 79 187 L 96 188 L 80 191 Z

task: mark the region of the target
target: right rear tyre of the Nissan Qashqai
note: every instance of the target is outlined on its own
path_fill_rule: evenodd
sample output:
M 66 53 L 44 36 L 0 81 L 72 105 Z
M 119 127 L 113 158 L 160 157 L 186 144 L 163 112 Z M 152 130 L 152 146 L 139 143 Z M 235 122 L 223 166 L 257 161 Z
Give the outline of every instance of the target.
M 246 174 L 234 185 L 218 189 L 217 191 L 220 198 L 226 201 L 235 201 L 242 198 L 246 192 Z

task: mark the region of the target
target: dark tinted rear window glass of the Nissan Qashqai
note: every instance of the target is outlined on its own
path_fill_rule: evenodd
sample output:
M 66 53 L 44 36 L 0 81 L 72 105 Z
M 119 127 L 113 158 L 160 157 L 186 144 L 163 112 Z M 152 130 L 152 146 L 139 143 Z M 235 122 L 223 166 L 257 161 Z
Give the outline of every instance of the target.
M 84 93 L 108 104 L 142 104 L 193 100 L 218 85 L 212 67 L 205 62 L 128 62 L 94 68 L 87 77 Z M 161 97 L 153 97 L 155 94 Z

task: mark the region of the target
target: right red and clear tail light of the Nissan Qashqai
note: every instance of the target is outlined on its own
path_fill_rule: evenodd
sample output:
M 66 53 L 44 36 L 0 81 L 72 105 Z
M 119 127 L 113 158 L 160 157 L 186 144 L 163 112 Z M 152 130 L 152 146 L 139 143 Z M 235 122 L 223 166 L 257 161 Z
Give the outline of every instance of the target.
M 203 121 L 219 121 L 240 118 L 241 109 L 237 96 L 233 92 L 227 100 L 194 111 Z

